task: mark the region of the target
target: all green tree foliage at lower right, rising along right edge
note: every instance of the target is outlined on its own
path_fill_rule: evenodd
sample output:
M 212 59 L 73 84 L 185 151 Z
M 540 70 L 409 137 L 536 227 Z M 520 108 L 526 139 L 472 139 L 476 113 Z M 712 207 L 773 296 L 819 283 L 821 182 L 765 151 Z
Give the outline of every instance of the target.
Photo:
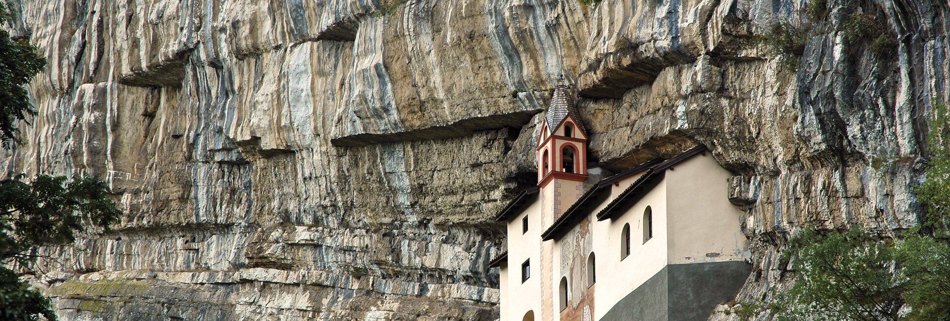
M 753 318 L 777 320 L 950 320 L 950 111 L 935 100 L 928 162 L 915 192 L 921 226 L 895 239 L 806 231 L 789 240 L 795 281 L 772 302 L 738 305 Z

